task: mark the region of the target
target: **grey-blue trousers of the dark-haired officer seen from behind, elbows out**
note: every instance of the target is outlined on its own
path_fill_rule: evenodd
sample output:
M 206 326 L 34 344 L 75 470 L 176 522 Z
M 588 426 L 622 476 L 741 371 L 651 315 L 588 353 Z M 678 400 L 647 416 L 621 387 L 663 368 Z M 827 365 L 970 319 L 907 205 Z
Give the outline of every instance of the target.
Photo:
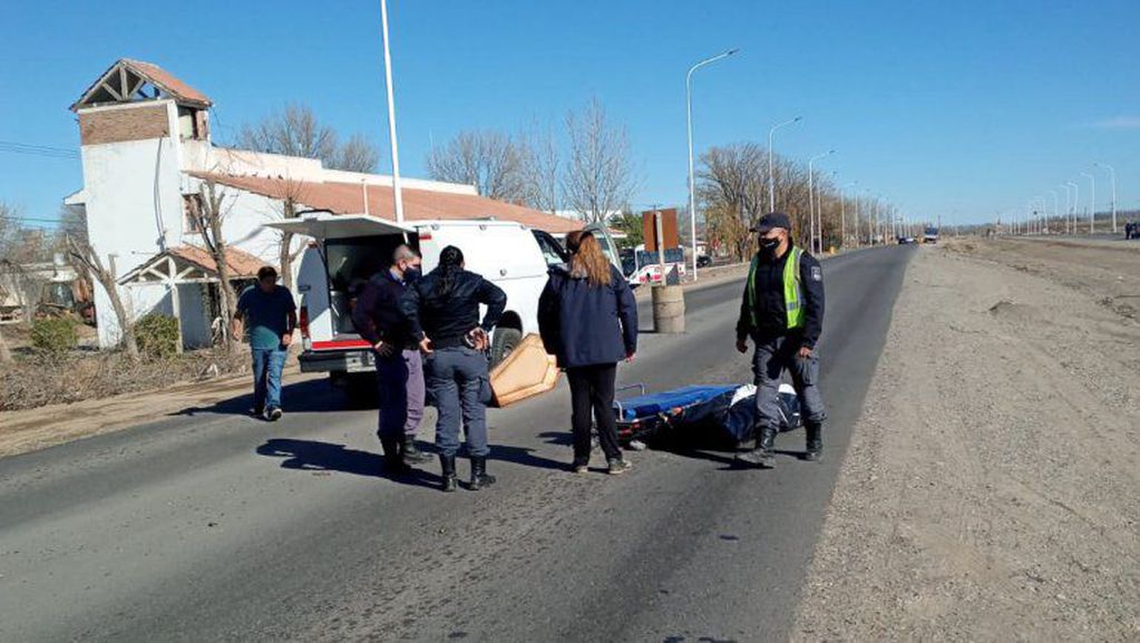
M 469 348 L 440 349 L 427 356 L 424 380 L 439 418 L 435 421 L 435 446 L 439 453 L 454 456 L 459 451 L 459 424 L 467 436 L 467 455 L 486 457 L 488 390 L 487 357 Z

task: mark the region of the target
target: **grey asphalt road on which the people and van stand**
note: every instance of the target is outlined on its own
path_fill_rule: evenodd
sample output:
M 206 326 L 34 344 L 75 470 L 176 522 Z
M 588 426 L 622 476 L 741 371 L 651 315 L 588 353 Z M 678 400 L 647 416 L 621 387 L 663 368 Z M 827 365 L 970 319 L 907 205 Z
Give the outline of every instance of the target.
M 917 251 L 824 263 L 821 464 L 793 432 L 774 471 L 697 438 L 573 475 L 560 385 L 491 412 L 496 486 L 445 495 L 434 464 L 380 477 L 375 412 L 324 382 L 276 424 L 239 399 L 2 459 L 0 641 L 782 640 Z M 690 292 L 687 334 L 643 335 L 620 382 L 749 381 L 740 290 Z

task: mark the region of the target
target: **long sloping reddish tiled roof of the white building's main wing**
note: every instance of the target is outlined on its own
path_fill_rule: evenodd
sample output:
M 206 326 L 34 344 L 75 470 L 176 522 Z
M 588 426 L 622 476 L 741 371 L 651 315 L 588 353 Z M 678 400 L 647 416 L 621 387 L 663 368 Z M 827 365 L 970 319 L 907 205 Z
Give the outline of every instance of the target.
M 233 188 L 252 192 L 270 198 L 303 203 L 309 207 L 329 210 L 336 214 L 363 214 L 364 190 L 360 184 L 337 181 L 298 181 L 269 177 L 231 176 L 192 172 L 199 179 Z M 551 234 L 571 233 L 581 228 L 581 221 L 555 217 L 522 205 L 495 201 L 472 194 L 453 194 L 426 189 L 401 190 L 404 215 L 408 221 L 494 219 L 516 221 Z M 392 188 L 368 186 L 368 213 L 394 220 L 396 207 Z

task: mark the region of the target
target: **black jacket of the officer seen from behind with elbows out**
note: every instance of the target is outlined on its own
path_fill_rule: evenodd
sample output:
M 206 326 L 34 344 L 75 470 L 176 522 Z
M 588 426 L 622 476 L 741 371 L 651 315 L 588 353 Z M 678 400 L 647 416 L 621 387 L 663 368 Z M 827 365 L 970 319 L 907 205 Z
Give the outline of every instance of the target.
M 466 270 L 455 275 L 448 294 L 439 292 L 440 280 L 440 271 L 432 270 L 410 284 L 400 298 L 400 312 L 408 320 L 416 341 L 427 336 L 437 349 L 454 348 L 462 345 L 464 335 L 475 326 L 488 333 L 495 328 L 506 308 L 503 288 Z M 480 303 L 487 306 L 482 323 L 479 322 Z

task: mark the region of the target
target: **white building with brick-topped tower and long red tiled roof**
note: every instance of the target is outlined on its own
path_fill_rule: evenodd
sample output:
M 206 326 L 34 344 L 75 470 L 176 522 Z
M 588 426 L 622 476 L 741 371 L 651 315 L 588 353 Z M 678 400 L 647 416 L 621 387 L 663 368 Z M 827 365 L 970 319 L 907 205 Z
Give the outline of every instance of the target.
M 217 317 L 217 278 L 201 261 L 201 234 L 187 215 L 204 181 L 223 194 L 223 235 L 235 250 L 228 263 L 241 278 L 259 263 L 278 264 L 279 233 L 263 223 L 280 219 L 286 201 L 299 210 L 393 217 L 391 177 L 214 146 L 211 105 L 165 70 L 121 59 L 71 107 L 79 116 L 83 188 L 65 203 L 85 210 L 91 245 L 119 276 L 128 311 L 136 318 L 152 311 L 178 317 L 187 348 L 209 344 Z M 416 179 L 401 185 L 408 220 L 514 220 L 551 233 L 580 227 L 480 197 L 473 186 Z M 117 344 L 120 329 L 98 285 L 95 303 L 100 345 Z

